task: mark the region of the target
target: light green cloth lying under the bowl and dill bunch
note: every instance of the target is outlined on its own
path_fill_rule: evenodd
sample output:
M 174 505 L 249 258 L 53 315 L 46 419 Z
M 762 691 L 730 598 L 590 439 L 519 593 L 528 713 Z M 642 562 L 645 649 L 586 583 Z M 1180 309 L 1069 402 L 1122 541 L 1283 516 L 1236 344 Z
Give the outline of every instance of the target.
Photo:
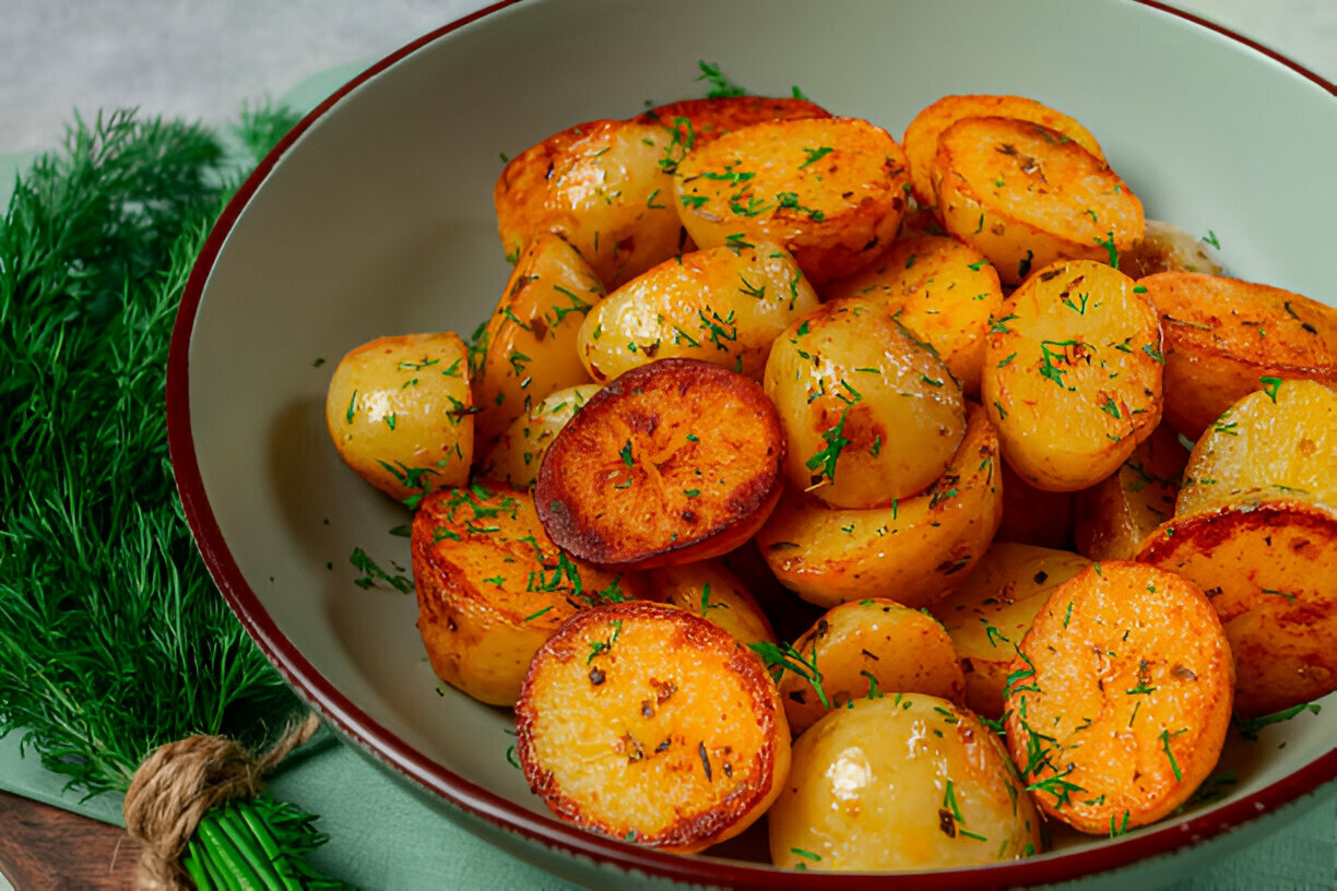
M 365 67 L 354 63 L 325 71 L 298 84 L 282 102 L 312 108 Z M 13 174 L 31 159 L 31 154 L 0 155 L 0 200 L 7 200 Z M 83 801 L 76 789 L 63 789 L 62 777 L 44 771 L 36 759 L 23 757 L 19 732 L 0 740 L 0 788 L 122 824 L 119 796 Z M 270 789 L 320 815 L 317 827 L 332 842 L 313 855 L 313 862 L 362 888 L 566 891 L 576 887 L 481 842 L 328 732 L 283 764 Z M 1302 819 L 1284 823 L 1251 844 L 1230 847 L 1229 855 L 1210 868 L 1169 887 L 1337 890 L 1337 789 L 1326 789 L 1324 799 Z

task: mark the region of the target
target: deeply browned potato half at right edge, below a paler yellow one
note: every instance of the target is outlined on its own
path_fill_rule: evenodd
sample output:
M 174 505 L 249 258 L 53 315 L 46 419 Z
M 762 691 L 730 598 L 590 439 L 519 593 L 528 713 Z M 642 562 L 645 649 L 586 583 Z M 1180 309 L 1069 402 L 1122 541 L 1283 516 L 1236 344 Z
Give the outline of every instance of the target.
M 1138 560 L 1202 588 L 1235 655 L 1235 712 L 1269 715 L 1337 689 L 1337 512 L 1237 496 L 1161 525 Z

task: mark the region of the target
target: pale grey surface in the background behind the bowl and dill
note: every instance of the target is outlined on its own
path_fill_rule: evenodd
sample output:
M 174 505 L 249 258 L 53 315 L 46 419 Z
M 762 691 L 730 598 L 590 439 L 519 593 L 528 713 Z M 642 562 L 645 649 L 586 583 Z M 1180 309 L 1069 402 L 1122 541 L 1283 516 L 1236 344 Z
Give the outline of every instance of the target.
M 1078 1 L 1078 0 L 1074 0 Z M 0 0 L 0 154 L 51 148 L 79 110 L 206 123 L 373 61 L 483 0 Z M 1337 0 L 1174 5 L 1337 80 Z M 504 64 L 504 61 L 499 61 Z

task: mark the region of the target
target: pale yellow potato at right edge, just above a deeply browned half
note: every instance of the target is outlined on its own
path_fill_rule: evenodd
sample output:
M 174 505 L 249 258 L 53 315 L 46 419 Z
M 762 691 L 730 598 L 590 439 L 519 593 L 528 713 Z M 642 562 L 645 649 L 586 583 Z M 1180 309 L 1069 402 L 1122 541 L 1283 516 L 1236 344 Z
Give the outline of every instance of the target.
M 1337 508 L 1337 390 L 1275 381 L 1226 409 L 1193 446 L 1175 513 L 1251 492 Z

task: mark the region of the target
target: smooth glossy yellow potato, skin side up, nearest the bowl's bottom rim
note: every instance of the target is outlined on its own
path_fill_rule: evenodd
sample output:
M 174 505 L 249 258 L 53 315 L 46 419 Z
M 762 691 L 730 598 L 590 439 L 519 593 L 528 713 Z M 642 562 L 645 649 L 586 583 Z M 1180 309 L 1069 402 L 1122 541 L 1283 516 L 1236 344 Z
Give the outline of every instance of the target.
M 997 736 L 919 693 L 852 700 L 800 736 L 769 824 L 771 862 L 805 870 L 943 870 L 1042 848 Z

